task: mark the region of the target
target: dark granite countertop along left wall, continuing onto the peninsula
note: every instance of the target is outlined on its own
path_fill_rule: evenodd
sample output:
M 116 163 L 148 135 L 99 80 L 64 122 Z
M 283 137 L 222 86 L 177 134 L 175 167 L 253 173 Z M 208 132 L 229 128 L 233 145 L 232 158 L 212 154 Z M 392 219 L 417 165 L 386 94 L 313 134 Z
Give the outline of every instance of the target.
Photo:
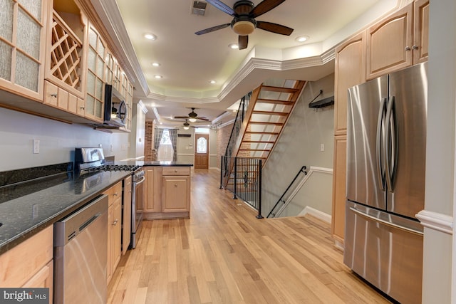
M 142 167 L 191 167 L 188 162 L 128 161 Z M 72 163 L 0 172 L 0 254 L 87 204 L 132 172 L 73 177 Z M 26 182 L 21 182 L 25 179 Z

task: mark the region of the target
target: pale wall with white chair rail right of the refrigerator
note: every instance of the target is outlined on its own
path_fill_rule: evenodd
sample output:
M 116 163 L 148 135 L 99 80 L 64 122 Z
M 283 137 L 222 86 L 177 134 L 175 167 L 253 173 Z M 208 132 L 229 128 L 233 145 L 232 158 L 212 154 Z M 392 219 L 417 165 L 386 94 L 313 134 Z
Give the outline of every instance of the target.
M 452 235 L 425 228 L 423 303 L 456 303 L 455 16 L 454 0 L 430 1 L 425 211 Z

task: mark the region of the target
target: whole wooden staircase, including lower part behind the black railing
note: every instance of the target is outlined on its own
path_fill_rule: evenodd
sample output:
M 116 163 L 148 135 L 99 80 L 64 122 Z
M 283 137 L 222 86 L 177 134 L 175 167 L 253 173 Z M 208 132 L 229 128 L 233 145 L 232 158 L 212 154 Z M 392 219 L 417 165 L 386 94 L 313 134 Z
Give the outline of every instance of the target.
M 305 84 L 301 80 L 268 80 L 252 92 L 242 125 L 235 122 L 233 127 L 239 132 L 233 145 L 230 139 L 222 161 L 220 187 L 232 189 L 234 196 L 257 192 L 259 182 L 254 181 L 258 176 L 261 180 L 261 167 L 279 140 Z M 254 185 L 249 187 L 249 183 Z

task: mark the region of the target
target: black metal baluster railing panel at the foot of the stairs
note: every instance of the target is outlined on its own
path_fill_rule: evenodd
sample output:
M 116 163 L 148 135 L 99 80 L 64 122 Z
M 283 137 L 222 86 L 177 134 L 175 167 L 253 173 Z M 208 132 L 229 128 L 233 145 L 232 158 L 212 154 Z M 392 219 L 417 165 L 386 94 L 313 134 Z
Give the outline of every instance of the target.
M 242 199 L 261 216 L 261 159 L 222 156 L 220 189 L 234 194 L 233 199 Z M 232 181 L 232 182 L 229 182 Z M 225 185 L 225 186 L 224 186 Z

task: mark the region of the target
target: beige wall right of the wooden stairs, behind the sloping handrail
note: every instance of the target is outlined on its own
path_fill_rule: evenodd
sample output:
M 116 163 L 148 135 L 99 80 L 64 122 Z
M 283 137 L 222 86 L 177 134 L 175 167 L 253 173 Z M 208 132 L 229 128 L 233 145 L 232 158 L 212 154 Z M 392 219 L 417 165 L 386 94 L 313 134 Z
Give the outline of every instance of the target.
M 264 165 L 261 192 L 263 216 L 269 214 L 302 166 L 306 165 L 308 171 L 311 166 L 333 167 L 334 109 L 332 106 L 318 110 L 309 108 L 310 101 L 320 90 L 323 90 L 323 95 L 317 100 L 334 95 L 334 74 L 306 85 L 274 152 Z M 320 151 L 321 144 L 324 145 L 323 152 Z M 291 209 L 297 212 L 293 215 L 299 214 L 305 206 L 331 214 L 331 193 L 332 175 L 315 173 L 309 184 L 296 194 Z M 283 215 L 291 214 L 286 211 Z

